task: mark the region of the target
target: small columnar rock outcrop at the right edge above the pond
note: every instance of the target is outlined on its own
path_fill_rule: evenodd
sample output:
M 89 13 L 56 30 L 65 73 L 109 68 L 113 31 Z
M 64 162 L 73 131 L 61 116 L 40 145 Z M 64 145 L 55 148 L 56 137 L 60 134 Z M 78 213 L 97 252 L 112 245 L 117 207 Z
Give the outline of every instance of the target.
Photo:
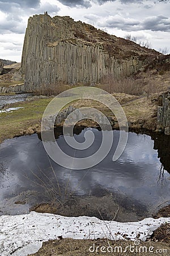
M 157 129 L 164 134 L 170 135 L 170 92 L 163 93 L 159 96 L 159 107 L 157 115 Z

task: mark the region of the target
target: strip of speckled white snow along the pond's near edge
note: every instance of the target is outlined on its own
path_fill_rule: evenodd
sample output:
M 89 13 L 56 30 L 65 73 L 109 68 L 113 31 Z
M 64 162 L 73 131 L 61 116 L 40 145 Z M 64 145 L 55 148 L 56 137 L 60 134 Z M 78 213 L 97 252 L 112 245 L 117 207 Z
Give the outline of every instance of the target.
M 25 256 L 35 253 L 42 241 L 58 236 L 75 239 L 104 238 L 145 241 L 152 232 L 170 218 L 146 218 L 139 222 L 103 221 L 96 217 L 63 217 L 49 213 L 36 213 L 0 217 L 0 255 Z

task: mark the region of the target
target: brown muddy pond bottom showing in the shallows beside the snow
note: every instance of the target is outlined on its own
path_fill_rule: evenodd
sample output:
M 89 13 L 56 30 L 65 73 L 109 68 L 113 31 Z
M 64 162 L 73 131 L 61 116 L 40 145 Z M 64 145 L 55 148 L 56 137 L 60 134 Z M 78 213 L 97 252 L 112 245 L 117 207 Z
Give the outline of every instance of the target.
M 96 191 L 97 193 L 97 191 Z M 105 195 L 102 195 L 105 193 Z M 65 196 L 65 199 L 53 200 L 39 204 L 30 210 L 40 213 L 53 213 L 62 216 L 95 216 L 100 220 L 116 220 L 120 222 L 139 221 L 151 217 L 144 205 L 131 200 L 120 193 L 107 193 L 99 188 L 99 196 Z

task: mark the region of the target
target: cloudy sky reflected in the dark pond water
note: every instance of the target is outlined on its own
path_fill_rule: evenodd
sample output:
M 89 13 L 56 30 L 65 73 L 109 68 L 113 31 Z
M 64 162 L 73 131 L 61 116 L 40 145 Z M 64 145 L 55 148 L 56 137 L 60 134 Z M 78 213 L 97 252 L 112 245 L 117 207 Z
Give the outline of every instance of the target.
M 96 129 L 91 130 L 95 133 L 94 144 L 85 152 L 75 151 L 76 157 L 90 155 L 95 152 L 96 148 L 100 147 L 101 132 Z M 86 129 L 79 135 L 75 135 L 79 142 L 84 141 L 84 131 Z M 118 131 L 114 131 L 113 148 L 107 158 L 90 170 L 70 171 L 53 163 L 59 183 L 66 186 L 69 179 L 70 191 L 75 190 L 81 195 L 89 195 L 95 191 L 96 187 L 101 187 L 111 192 L 126 193 L 146 205 L 159 205 L 168 200 L 170 196 L 169 174 L 165 171 L 163 183 L 158 183 L 161 164 L 157 150 L 153 149 L 154 141 L 151 140 L 151 137 L 129 133 L 128 144 L 124 153 L 120 159 L 112 162 L 118 134 Z M 61 144 L 65 152 L 74 155 L 74 150 L 71 151 L 66 146 L 62 135 L 57 139 L 57 142 Z M 2 197 L 16 195 L 27 189 L 40 191 L 40 187 L 32 182 L 37 180 L 34 174 L 44 178 L 39 168 L 53 183 L 55 182 L 53 172 L 49 168 L 48 157 L 36 134 L 9 139 L 0 145 L 0 151 L 0 162 L 5 166 L 8 176 L 6 182 L 1 177 L 0 192 Z M 74 163 L 70 163 L 70 166 L 71 164 Z M 25 176 L 28 176 L 28 179 Z

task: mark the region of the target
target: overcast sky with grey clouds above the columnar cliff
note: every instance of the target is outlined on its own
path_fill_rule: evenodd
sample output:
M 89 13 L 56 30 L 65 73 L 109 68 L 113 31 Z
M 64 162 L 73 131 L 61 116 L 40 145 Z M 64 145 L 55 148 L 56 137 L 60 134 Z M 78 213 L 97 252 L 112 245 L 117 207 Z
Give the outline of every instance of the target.
M 116 36 L 131 34 L 170 52 L 169 0 L 0 0 L 0 59 L 21 61 L 28 18 L 44 11 L 69 15 Z

